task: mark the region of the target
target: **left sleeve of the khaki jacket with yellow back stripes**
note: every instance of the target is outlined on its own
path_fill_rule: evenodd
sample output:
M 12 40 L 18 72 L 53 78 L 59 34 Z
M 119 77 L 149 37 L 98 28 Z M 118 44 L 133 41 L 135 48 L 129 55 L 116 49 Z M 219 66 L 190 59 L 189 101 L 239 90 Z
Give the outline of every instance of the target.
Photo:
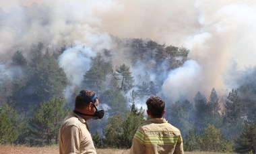
M 145 134 L 143 130 L 137 129 L 133 137 L 133 144 L 131 145 L 130 154 L 143 153 L 145 149 L 144 137 L 145 137 Z

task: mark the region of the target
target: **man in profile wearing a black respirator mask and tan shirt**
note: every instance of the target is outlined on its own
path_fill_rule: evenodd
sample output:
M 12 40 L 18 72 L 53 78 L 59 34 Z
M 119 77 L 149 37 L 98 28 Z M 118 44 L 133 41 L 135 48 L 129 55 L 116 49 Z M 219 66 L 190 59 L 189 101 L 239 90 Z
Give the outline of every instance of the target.
M 98 110 L 98 96 L 94 91 L 81 90 L 75 97 L 75 108 L 64 119 L 59 129 L 59 153 L 96 153 L 86 121 L 102 119 Z

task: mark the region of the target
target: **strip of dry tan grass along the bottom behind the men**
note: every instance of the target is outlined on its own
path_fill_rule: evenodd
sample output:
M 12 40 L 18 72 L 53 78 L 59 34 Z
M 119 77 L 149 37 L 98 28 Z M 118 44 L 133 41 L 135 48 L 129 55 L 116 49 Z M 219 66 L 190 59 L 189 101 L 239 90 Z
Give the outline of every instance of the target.
M 99 154 L 128 154 L 129 149 L 96 149 Z M 0 145 L 1 154 L 25 154 L 25 153 L 40 153 L 40 154 L 57 154 L 59 147 L 57 145 L 51 147 L 24 147 L 24 146 L 11 146 Z M 185 154 L 223 154 L 212 152 L 185 152 Z

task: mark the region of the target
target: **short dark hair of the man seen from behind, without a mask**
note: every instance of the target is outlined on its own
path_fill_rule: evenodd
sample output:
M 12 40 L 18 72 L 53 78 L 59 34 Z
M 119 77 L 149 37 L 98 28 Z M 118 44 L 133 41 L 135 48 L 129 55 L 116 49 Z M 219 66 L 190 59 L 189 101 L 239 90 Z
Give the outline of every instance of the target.
M 146 101 L 148 106 L 148 112 L 152 114 L 154 118 L 162 118 L 164 115 L 164 100 L 158 96 L 150 96 Z

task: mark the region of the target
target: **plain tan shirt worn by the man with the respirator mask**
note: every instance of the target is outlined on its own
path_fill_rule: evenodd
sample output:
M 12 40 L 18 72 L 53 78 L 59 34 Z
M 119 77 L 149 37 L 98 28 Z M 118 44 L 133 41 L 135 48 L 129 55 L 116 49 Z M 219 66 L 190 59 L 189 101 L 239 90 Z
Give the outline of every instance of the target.
M 59 153 L 96 153 L 86 121 L 73 112 L 59 129 Z

